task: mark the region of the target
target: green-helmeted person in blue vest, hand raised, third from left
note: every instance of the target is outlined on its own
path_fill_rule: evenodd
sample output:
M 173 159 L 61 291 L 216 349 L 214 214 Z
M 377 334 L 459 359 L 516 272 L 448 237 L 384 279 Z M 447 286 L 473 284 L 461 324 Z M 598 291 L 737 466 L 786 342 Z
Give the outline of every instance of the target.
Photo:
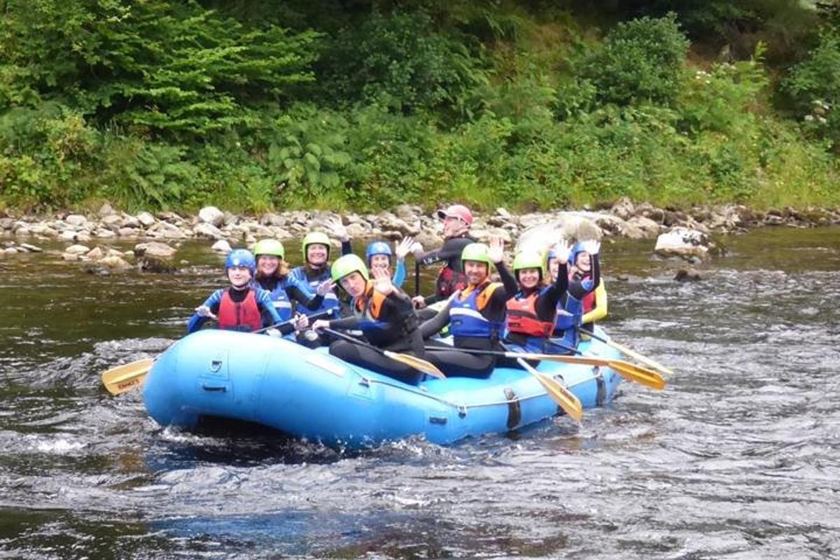
M 350 238 L 347 234 L 347 228 L 339 220 L 333 220 L 327 223 L 329 233 L 334 237 L 339 238 L 341 242 L 341 254 L 353 253 L 353 248 L 350 246 Z M 306 315 L 315 315 L 334 309 L 339 311 L 341 309 L 341 301 L 339 301 L 339 293 L 335 287 L 335 283 L 330 277 L 329 252 L 330 241 L 327 233 L 323 232 L 309 232 L 304 236 L 302 243 L 303 259 L 305 264 L 298 266 L 291 270 L 289 276 L 295 280 L 302 282 L 309 286 L 310 292 L 317 292 L 318 286 L 327 282 L 327 285 L 322 287 L 320 293 L 323 293 L 323 301 L 316 309 L 310 309 L 305 305 L 297 304 L 297 311 Z

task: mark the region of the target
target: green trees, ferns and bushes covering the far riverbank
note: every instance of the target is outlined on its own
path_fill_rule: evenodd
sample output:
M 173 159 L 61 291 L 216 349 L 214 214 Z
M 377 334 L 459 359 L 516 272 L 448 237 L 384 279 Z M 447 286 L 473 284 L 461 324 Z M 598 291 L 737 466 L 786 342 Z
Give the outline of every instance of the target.
M 840 203 L 832 3 L 2 5 L 0 207 Z

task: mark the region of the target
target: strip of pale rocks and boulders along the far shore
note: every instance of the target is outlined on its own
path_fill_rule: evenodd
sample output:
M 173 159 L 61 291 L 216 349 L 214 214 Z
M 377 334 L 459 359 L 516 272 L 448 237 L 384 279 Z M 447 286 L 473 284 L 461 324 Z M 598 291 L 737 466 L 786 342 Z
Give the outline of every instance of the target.
M 215 207 L 204 207 L 196 216 L 176 212 L 118 212 L 104 204 L 98 212 L 82 215 L 60 213 L 51 217 L 0 216 L 0 257 L 38 252 L 39 240 L 60 240 L 67 243 L 61 258 L 67 261 L 95 261 L 111 269 L 141 268 L 149 259 L 170 259 L 176 254 L 172 245 L 187 239 L 206 239 L 213 249 L 227 252 L 230 246 L 251 245 L 260 238 L 281 241 L 300 239 L 312 228 L 319 228 L 340 218 L 351 238 L 399 239 L 417 238 L 424 247 L 443 242 L 440 222 L 434 213 L 420 207 L 402 205 L 392 212 L 378 214 L 332 212 L 265 213 L 260 217 L 235 215 Z M 472 234 L 479 240 L 491 235 L 515 243 L 534 228 L 553 224 L 564 227 L 570 237 L 581 237 L 575 224 L 587 222 L 587 237 L 657 238 L 660 254 L 676 254 L 686 258 L 704 258 L 715 234 L 739 233 L 749 228 L 787 226 L 810 228 L 840 223 L 840 212 L 827 209 L 771 210 L 756 212 L 743 206 L 699 207 L 688 212 L 634 204 L 626 198 L 612 207 L 598 211 L 533 212 L 514 215 L 504 208 L 492 213 L 476 213 Z M 118 251 L 109 246 L 114 240 L 136 239 L 131 251 Z M 680 244 L 687 251 L 680 251 Z M 700 248 L 700 249 L 698 249 Z M 673 250 L 672 250 L 673 249 Z M 134 264 L 129 260 L 134 259 Z M 155 268 L 154 266 L 151 268 Z

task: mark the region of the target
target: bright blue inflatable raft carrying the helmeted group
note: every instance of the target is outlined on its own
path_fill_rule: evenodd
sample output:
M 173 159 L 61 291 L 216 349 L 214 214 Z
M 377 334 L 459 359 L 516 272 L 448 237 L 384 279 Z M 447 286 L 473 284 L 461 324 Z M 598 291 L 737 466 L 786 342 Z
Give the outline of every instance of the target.
M 580 350 L 619 358 L 594 339 Z M 621 382 L 609 368 L 543 361 L 537 369 L 567 385 L 584 407 L 611 400 Z M 211 416 L 351 448 L 411 435 L 451 443 L 563 413 L 523 369 L 406 385 L 334 358 L 327 348 L 217 330 L 195 332 L 163 353 L 145 381 L 144 402 L 162 426 L 189 429 Z

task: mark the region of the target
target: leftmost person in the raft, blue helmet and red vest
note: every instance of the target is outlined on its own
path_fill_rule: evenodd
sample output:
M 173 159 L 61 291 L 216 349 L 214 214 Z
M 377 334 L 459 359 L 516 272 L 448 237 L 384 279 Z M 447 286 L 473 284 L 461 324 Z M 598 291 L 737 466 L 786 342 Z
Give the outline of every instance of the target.
M 225 259 L 224 269 L 230 287 L 216 290 L 187 323 L 186 332 L 196 332 L 208 319 L 216 319 L 218 327 L 231 331 L 254 332 L 264 327 L 263 312 L 271 323 L 281 322 L 270 294 L 262 288 L 251 286 L 256 262 L 248 249 L 234 249 Z

